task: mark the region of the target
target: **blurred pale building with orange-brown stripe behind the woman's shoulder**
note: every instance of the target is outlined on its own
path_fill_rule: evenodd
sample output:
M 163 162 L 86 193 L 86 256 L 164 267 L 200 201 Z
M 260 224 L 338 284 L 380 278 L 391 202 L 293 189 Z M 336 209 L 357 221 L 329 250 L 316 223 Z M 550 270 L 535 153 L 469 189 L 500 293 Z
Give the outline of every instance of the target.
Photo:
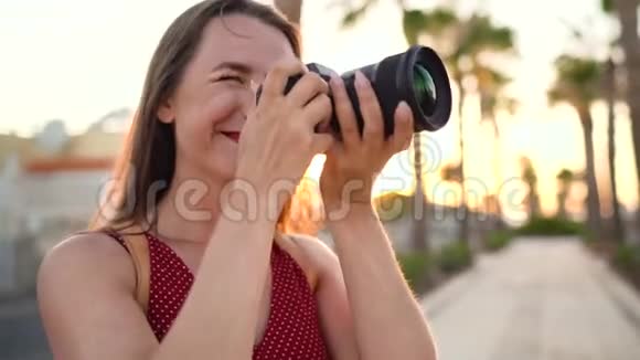
M 86 227 L 124 140 L 100 121 L 78 136 L 58 120 L 33 138 L 0 135 L 0 297 L 32 287 L 44 251 Z

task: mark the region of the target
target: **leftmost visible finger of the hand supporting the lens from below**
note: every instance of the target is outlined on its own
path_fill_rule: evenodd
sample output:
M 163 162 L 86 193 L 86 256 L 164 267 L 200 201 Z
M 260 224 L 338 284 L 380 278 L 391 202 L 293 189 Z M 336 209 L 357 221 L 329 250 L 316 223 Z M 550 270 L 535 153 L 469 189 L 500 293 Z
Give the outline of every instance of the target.
M 359 144 L 360 134 L 358 131 L 358 121 L 355 120 L 353 105 L 346 95 L 344 82 L 341 77 L 332 76 L 329 83 L 331 85 L 333 109 L 335 112 L 335 117 L 338 118 L 338 124 L 340 125 L 342 142 L 345 147 Z

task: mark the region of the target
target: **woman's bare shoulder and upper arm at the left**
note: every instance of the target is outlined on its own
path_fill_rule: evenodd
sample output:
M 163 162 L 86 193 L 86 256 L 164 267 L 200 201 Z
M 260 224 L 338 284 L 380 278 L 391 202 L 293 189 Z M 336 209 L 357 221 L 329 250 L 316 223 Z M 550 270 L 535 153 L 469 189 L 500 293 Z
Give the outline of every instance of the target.
M 135 300 L 127 251 L 106 234 L 70 236 L 44 257 L 38 303 L 56 359 L 143 359 L 154 337 Z

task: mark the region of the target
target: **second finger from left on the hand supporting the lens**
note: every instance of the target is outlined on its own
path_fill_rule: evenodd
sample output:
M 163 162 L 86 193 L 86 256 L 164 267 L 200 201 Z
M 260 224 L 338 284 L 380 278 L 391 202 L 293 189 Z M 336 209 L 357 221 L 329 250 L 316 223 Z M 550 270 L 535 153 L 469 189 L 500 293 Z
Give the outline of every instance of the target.
M 364 120 L 362 140 L 381 146 L 384 140 L 384 124 L 377 97 L 371 83 L 361 72 L 355 73 L 355 92 L 360 104 L 360 113 Z

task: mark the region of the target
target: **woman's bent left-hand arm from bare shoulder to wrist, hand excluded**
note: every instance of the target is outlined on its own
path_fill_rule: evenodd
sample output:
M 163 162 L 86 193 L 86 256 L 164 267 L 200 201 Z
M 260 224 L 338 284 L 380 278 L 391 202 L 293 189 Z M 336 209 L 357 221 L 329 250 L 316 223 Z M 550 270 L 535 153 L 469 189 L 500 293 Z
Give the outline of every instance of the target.
M 238 210 L 236 207 L 235 210 Z M 127 253 L 103 234 L 50 252 L 38 282 L 56 359 L 250 359 L 275 223 L 221 216 L 179 316 L 158 345 Z

